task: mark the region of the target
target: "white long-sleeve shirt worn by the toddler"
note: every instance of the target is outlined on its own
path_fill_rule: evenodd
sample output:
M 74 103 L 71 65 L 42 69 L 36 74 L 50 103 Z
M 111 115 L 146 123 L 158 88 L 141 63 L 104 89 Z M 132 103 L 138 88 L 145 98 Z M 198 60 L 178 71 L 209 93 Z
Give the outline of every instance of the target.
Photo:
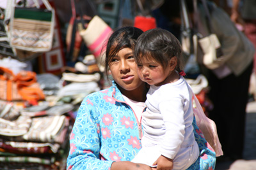
M 142 163 L 149 165 L 160 155 L 173 159 L 173 169 L 175 164 L 183 169 L 195 162 L 199 149 L 193 133 L 192 96 L 191 87 L 182 76 L 174 83 L 150 86 L 145 103 L 147 110 L 141 115 L 142 149 L 134 162 L 140 162 L 140 157 L 145 157 L 143 154 L 147 155 L 147 162 Z M 156 153 L 150 154 L 152 152 Z M 153 162 L 148 162 L 149 157 L 154 157 Z

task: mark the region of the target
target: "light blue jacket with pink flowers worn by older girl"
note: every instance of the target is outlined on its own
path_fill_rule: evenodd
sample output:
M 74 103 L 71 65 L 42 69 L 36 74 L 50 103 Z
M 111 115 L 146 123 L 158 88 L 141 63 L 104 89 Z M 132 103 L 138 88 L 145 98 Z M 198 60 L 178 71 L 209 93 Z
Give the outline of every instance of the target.
M 112 87 L 84 98 L 72 132 L 67 169 L 111 169 L 113 161 L 132 160 L 141 148 L 140 120 Z M 216 156 L 194 121 L 200 157 L 189 169 L 214 169 Z

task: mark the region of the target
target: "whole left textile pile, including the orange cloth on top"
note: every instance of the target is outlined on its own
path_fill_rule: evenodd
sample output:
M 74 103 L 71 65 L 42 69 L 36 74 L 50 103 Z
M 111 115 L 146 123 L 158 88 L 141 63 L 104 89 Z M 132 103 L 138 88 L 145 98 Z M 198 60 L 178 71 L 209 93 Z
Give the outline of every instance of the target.
M 74 105 L 49 102 L 58 81 L 0 67 L 1 169 L 65 169 Z

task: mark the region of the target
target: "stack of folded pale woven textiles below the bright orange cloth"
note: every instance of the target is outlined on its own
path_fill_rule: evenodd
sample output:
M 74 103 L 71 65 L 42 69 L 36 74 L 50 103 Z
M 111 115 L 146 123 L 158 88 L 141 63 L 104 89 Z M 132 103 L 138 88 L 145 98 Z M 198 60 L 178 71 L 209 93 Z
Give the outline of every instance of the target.
M 20 108 L 1 101 L 1 169 L 65 169 L 72 109 L 72 104 Z

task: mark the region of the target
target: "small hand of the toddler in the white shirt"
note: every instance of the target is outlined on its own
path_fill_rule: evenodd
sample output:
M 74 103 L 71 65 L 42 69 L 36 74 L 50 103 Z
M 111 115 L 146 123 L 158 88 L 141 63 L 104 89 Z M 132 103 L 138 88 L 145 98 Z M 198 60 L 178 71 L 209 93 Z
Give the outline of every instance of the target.
M 157 170 L 172 170 L 173 169 L 173 160 L 161 155 L 153 165 L 157 165 Z

